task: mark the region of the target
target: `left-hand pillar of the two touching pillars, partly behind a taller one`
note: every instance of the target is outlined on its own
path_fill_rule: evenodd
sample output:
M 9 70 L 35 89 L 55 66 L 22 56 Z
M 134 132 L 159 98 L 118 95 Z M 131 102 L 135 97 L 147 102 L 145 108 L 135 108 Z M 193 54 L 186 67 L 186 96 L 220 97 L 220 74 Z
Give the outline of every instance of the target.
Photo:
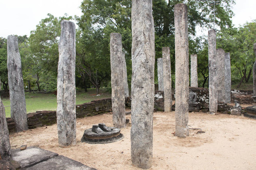
M 218 48 L 216 52 L 216 70 L 217 70 L 217 91 L 218 102 L 225 102 L 225 51 Z

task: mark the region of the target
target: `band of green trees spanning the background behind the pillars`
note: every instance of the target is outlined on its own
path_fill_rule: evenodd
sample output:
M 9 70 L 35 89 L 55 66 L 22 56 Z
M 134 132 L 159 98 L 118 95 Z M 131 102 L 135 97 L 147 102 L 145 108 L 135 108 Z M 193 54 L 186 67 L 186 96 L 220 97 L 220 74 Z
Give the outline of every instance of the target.
M 186 3 L 188 7 L 189 56 L 198 54 L 199 86 L 208 86 L 208 43 L 207 36 L 196 37 L 196 27 L 206 30 L 214 27 L 214 10 L 209 1 L 165 1 L 153 0 L 155 22 L 156 61 L 162 57 L 162 47 L 170 47 L 172 65 L 172 84 L 175 83 L 174 47 L 174 5 Z M 230 53 L 232 83 L 252 81 L 251 70 L 255 60 L 253 43 L 256 42 L 256 20 L 234 28 L 231 22 L 233 0 L 223 0 L 216 6 L 215 28 L 217 28 L 217 47 Z M 18 36 L 19 51 L 22 57 L 23 78 L 26 89 L 56 89 L 58 42 L 60 21 L 73 20 L 76 28 L 76 86 L 111 87 L 110 33 L 122 35 L 123 52 L 127 64 L 127 77 L 132 77 L 132 31 L 131 0 L 84 0 L 80 9 L 82 15 L 48 17 L 42 19 L 31 31 L 30 37 Z M 8 91 L 6 38 L 0 38 L 0 78 L 3 88 Z M 157 82 L 157 62 L 155 65 Z

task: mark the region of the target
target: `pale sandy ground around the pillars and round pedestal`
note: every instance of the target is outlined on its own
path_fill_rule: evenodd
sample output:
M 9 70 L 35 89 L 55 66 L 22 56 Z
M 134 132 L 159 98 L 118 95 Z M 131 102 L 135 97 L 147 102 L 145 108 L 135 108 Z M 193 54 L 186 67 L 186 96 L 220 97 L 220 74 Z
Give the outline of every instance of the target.
M 127 115 L 131 120 L 131 115 Z M 58 147 L 57 125 L 40 127 L 10 135 L 12 148 L 39 145 L 100 169 L 139 169 L 131 165 L 131 124 L 121 129 L 124 138 L 108 144 L 81 142 L 84 130 L 93 124 L 112 125 L 112 114 L 77 119 L 77 144 Z M 190 112 L 187 138 L 175 132 L 175 112 L 154 113 L 153 165 L 150 169 L 256 169 L 256 119 L 227 114 Z

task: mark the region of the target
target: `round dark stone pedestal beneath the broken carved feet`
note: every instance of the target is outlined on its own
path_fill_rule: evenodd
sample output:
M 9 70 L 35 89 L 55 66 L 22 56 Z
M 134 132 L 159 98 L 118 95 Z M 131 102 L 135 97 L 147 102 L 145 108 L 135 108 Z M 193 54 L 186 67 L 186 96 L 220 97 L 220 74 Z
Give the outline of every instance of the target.
M 83 136 L 81 138 L 81 142 L 87 142 L 92 144 L 97 143 L 112 143 L 123 138 L 123 134 L 120 133 L 120 129 L 109 127 L 111 129 L 110 132 L 103 133 L 94 133 L 92 132 L 92 128 L 84 131 Z

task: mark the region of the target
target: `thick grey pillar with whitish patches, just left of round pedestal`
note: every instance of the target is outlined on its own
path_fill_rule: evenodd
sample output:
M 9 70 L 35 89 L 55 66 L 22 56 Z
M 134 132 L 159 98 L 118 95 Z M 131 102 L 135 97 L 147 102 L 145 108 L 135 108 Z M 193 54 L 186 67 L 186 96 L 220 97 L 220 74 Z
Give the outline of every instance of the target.
M 62 20 L 57 78 L 57 127 L 60 147 L 76 144 L 75 38 L 75 24 Z

